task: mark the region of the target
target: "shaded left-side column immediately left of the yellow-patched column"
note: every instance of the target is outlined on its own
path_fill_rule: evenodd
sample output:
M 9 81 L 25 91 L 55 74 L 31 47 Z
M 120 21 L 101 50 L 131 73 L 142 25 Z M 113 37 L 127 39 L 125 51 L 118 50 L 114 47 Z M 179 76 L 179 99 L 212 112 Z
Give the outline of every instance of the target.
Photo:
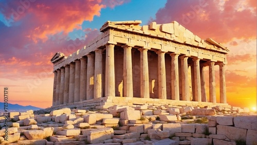
M 80 58 L 80 101 L 86 99 L 86 58 Z

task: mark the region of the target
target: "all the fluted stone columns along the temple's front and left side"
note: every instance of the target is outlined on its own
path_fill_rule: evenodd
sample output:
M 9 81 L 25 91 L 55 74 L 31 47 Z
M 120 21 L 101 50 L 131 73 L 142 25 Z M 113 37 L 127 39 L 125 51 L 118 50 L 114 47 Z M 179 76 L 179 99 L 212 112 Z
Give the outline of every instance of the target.
M 115 62 L 114 44 L 106 45 L 105 58 L 105 96 L 115 96 Z M 123 45 L 123 96 L 133 97 L 132 47 Z M 150 98 L 149 90 L 149 48 L 140 48 L 140 97 Z M 102 49 L 87 54 L 86 58 L 75 60 L 65 67 L 54 71 L 53 105 L 78 102 L 86 99 L 103 97 L 103 62 Z M 158 55 L 158 98 L 167 99 L 165 53 L 156 51 Z M 171 53 L 171 99 L 179 100 L 179 69 L 181 65 L 182 100 L 190 100 L 188 77 L 188 56 Z M 194 101 L 207 101 L 205 92 L 204 66 L 200 66 L 199 58 L 193 58 Z M 210 102 L 216 102 L 215 62 L 209 61 Z M 224 64 L 219 65 L 219 82 L 221 103 L 226 103 L 226 86 Z M 96 66 L 96 67 L 95 67 Z

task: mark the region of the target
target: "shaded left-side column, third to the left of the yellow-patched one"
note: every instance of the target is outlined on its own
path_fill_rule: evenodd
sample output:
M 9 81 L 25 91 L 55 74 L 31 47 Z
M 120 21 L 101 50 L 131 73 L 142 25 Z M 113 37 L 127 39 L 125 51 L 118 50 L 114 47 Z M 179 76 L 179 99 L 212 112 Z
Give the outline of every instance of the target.
M 69 103 L 74 102 L 75 64 L 69 64 Z

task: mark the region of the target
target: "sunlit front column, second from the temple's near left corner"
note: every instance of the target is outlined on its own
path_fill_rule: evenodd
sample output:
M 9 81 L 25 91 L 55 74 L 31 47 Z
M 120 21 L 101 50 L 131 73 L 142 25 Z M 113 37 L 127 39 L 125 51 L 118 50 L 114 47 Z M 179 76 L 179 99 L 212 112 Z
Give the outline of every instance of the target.
M 131 46 L 123 45 L 123 96 L 133 97 L 133 76 Z

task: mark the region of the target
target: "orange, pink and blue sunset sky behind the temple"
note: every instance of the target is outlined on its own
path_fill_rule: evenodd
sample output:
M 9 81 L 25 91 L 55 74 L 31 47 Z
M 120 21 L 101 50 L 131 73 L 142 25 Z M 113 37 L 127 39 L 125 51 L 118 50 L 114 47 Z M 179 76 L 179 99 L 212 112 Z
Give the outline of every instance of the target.
M 9 87 L 9 103 L 51 107 L 51 57 L 83 48 L 107 20 L 142 20 L 141 26 L 176 20 L 222 43 L 230 50 L 228 103 L 256 107 L 256 0 L 0 0 L 0 89 Z

